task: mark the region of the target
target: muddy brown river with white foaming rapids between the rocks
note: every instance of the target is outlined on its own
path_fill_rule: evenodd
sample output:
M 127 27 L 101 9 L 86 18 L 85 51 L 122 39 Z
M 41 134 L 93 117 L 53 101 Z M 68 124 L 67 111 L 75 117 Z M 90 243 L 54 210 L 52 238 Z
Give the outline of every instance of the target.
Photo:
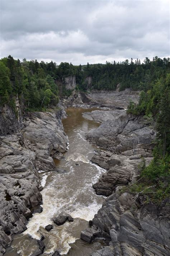
M 55 160 L 56 166 L 64 171 L 40 171 L 41 183 L 44 189 L 43 211 L 35 213 L 27 225 L 27 230 L 15 235 L 5 256 L 29 256 L 36 251 L 37 242 L 41 235 L 45 237 L 46 246 L 43 255 L 52 255 L 58 250 L 61 255 L 90 256 L 103 246 L 102 241 L 88 244 L 80 239 L 82 229 L 88 227 L 88 221 L 93 219 L 104 201 L 103 196 L 97 196 L 92 184 L 95 183 L 104 169 L 90 162 L 95 146 L 85 140 L 85 133 L 98 127 L 95 121 L 82 117 L 83 112 L 96 110 L 82 108 L 68 108 L 67 118 L 62 120 L 64 131 L 69 138 L 68 151 L 64 159 Z M 99 109 L 98 109 L 99 110 Z M 69 213 L 74 222 L 66 222 L 61 226 L 53 223 L 52 218 L 61 212 Z M 49 232 L 44 228 L 52 224 Z

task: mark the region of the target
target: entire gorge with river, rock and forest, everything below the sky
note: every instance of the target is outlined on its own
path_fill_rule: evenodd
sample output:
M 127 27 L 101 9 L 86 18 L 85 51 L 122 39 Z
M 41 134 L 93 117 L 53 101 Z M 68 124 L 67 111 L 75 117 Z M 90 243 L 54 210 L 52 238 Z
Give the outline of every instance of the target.
M 1 59 L 0 255 L 169 255 L 169 64 Z

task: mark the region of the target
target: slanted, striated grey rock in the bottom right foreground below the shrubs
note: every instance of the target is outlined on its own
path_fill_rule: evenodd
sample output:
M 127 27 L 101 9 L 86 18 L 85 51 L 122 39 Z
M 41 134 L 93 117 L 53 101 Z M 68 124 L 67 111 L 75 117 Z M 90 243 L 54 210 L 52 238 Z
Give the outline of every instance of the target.
M 109 246 L 93 253 L 107 255 L 169 255 L 169 209 L 162 202 L 160 207 L 151 203 L 133 201 L 128 193 L 118 190 L 110 195 L 93 219 L 93 226 L 81 232 L 87 242 L 103 237 Z

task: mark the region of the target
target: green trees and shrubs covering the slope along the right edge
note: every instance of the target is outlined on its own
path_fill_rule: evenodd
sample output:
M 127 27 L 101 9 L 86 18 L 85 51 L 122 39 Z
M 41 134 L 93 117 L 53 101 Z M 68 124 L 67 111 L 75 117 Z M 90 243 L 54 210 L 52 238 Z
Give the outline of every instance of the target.
M 170 73 L 156 79 L 146 93 L 141 92 L 139 104 L 130 102 L 127 112 L 143 114 L 145 123 L 156 129 L 154 159 L 139 168 L 142 181 L 130 186 L 129 191 L 145 195 L 145 203 L 159 204 L 170 197 Z

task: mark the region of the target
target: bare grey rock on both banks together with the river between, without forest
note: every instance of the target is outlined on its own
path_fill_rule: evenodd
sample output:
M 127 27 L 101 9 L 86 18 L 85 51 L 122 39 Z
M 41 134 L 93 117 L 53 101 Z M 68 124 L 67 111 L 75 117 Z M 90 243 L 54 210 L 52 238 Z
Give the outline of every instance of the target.
M 168 255 L 167 201 L 144 207 L 142 196 L 134 201 L 120 188 L 137 180 L 142 159 L 151 162 L 155 136 L 142 117 L 126 114 L 130 99 L 138 94 L 75 93 L 62 102 L 67 117 L 60 103 L 1 136 L 0 241 L 5 248 L 13 239 L 4 255 Z M 57 226 L 60 213 L 74 221 Z

